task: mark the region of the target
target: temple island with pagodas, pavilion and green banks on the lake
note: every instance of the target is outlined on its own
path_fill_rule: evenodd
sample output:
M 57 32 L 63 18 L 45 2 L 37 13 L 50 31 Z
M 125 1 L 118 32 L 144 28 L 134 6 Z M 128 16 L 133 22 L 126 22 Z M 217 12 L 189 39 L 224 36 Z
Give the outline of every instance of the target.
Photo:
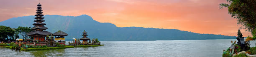
M 69 42 L 69 45 L 65 44 L 65 36 L 68 36 L 67 33 L 63 31 L 57 31 L 55 33 L 51 33 L 46 31 L 48 29 L 44 25 L 44 14 L 42 14 L 41 4 L 38 3 L 37 10 L 36 10 L 36 17 L 34 19 L 33 26 L 31 31 L 26 33 L 27 36 L 33 39 L 15 39 L 13 42 L 3 43 L 1 42 L 1 46 L 5 46 L 5 48 L 10 48 L 12 50 L 23 50 L 23 51 L 30 51 L 30 50 L 51 50 L 51 49 L 64 49 L 64 48 L 74 48 L 77 47 L 91 47 L 91 46 L 102 46 L 100 45 L 100 41 L 98 39 L 93 39 L 92 41 L 90 38 L 87 38 L 87 32 L 84 30 L 83 37 L 80 40 L 74 40 L 72 43 Z M 89 40 L 89 42 L 88 42 Z

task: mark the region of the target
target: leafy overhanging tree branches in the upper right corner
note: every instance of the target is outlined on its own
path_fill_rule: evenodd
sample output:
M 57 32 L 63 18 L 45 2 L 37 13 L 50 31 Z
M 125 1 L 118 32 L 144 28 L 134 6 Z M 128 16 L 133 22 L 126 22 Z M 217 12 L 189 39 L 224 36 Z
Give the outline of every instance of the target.
M 237 19 L 237 24 L 242 24 L 240 29 L 246 29 L 256 38 L 256 0 L 227 0 L 228 4 L 221 3 L 220 8 L 228 7 L 231 17 Z

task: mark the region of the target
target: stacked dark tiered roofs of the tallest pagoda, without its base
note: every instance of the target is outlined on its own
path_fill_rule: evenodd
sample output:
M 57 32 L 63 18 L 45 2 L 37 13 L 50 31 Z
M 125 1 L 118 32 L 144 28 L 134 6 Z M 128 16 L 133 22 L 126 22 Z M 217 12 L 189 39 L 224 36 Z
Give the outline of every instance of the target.
M 36 20 L 34 20 L 34 22 L 36 22 L 36 23 L 33 24 L 34 25 L 34 27 L 32 28 L 33 31 L 27 33 L 28 36 L 33 36 L 33 35 L 50 35 L 50 34 L 52 34 L 51 32 L 44 31 L 44 30 L 46 30 L 48 28 L 44 26 L 46 24 L 43 23 L 45 20 L 43 20 L 44 17 L 42 17 L 42 16 L 44 16 L 44 14 L 42 14 L 43 10 L 41 10 L 41 9 L 42 9 L 41 4 L 38 3 L 37 10 L 36 10 L 36 15 L 35 15 L 36 16 L 35 17 Z

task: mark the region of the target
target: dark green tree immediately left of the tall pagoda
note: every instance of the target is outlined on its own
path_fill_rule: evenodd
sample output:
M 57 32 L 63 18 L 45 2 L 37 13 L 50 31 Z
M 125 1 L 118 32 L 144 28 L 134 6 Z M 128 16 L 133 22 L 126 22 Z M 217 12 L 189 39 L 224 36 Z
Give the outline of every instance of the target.
M 31 27 L 21 27 L 19 26 L 16 31 L 20 33 L 21 36 L 23 36 L 24 40 L 27 41 L 27 38 L 29 37 L 27 35 L 28 32 L 32 31 Z

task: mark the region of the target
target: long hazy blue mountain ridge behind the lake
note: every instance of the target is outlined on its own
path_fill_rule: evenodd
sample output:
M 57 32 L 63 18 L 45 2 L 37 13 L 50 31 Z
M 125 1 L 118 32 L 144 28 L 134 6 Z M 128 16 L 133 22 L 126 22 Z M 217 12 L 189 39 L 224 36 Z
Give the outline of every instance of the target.
M 15 17 L 1 21 L 0 25 L 18 28 L 18 26 L 33 27 L 35 16 Z M 72 38 L 82 38 L 85 30 L 89 38 L 99 38 L 99 40 L 203 40 L 203 39 L 234 39 L 235 36 L 223 36 L 215 34 L 200 34 L 177 29 L 156 29 L 143 27 L 117 27 L 111 23 L 100 23 L 88 15 L 60 16 L 45 15 L 46 31 L 55 33 L 64 31 L 69 34 L 67 40 Z

